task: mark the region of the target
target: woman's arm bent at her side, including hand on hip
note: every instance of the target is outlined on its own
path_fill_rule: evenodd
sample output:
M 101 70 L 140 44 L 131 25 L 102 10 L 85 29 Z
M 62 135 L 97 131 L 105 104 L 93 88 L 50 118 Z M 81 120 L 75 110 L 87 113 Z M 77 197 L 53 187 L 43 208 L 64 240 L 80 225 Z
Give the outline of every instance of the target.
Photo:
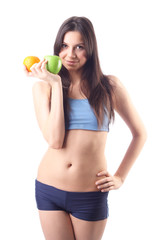
M 96 182 L 96 185 L 102 191 L 118 189 L 127 177 L 132 165 L 140 154 L 141 149 L 147 138 L 146 129 L 137 113 L 132 101 L 123 84 L 115 76 L 110 76 L 114 88 L 114 108 L 122 117 L 132 133 L 132 141 L 126 151 L 126 154 L 118 167 L 114 176 L 106 171 L 100 172 L 97 176 L 104 176 L 103 179 Z

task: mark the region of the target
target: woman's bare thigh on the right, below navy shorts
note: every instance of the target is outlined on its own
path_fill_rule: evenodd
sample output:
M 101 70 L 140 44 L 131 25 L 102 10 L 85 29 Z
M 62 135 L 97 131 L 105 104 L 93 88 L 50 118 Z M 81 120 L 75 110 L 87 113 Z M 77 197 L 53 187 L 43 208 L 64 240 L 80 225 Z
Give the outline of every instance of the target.
M 85 221 L 70 214 L 76 240 L 100 240 L 105 230 L 107 219 Z

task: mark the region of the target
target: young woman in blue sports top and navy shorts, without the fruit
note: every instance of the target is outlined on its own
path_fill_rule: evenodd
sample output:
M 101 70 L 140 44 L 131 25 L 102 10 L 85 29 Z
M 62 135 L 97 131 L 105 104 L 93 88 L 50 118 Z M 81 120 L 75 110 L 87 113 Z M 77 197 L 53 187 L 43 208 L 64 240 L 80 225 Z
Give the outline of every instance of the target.
M 32 66 L 36 117 L 48 142 L 38 169 L 36 200 L 46 240 L 99 240 L 108 218 L 107 197 L 118 189 L 146 140 L 144 125 L 127 91 L 115 76 L 102 73 L 92 23 L 67 19 L 59 29 L 54 54 L 59 75 L 46 60 Z M 109 124 L 117 111 L 132 141 L 114 175 L 105 158 Z

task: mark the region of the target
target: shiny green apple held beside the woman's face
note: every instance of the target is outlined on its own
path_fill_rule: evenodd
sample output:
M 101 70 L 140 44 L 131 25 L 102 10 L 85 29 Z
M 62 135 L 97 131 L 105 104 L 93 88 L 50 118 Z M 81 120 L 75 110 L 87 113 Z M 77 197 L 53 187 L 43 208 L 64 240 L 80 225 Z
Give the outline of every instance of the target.
M 49 72 L 57 74 L 61 70 L 62 61 L 60 57 L 56 55 L 46 55 L 44 59 L 48 60 L 46 68 Z

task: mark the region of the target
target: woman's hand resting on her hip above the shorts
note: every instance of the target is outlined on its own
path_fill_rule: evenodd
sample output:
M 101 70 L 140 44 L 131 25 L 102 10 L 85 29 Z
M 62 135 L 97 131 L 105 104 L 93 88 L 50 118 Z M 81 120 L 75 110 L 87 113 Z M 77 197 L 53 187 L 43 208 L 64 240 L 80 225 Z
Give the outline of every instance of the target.
M 97 177 L 103 177 L 101 180 L 96 181 L 96 186 L 101 192 L 108 192 L 110 190 L 118 189 L 122 186 L 123 181 L 120 177 L 112 176 L 107 171 L 102 171 L 97 174 Z

